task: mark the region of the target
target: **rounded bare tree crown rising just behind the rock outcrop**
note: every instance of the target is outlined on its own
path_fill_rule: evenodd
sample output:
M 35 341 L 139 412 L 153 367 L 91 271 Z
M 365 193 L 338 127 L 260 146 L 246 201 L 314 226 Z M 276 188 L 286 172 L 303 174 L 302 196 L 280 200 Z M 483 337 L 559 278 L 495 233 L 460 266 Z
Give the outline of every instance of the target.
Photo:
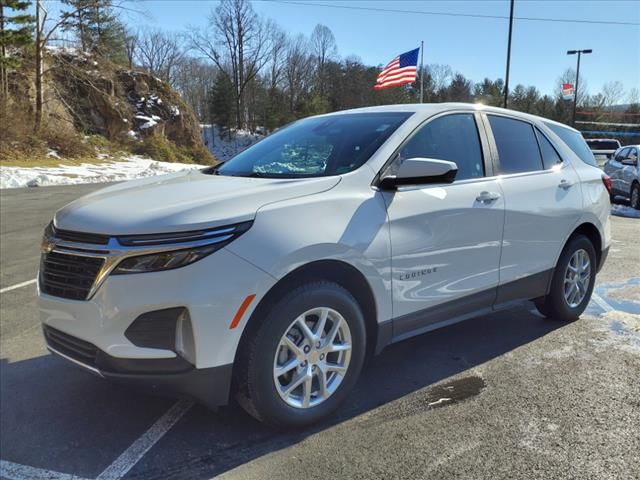
M 185 56 L 179 38 L 162 30 L 143 30 L 138 35 L 136 63 L 150 74 L 173 83 L 178 64 Z

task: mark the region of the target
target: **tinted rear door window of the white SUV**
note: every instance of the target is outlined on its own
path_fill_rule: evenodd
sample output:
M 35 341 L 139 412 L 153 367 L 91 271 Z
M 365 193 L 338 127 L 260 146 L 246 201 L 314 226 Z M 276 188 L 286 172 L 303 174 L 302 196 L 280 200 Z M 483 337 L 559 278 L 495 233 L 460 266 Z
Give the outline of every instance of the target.
M 500 173 L 542 170 L 542 158 L 533 127 L 520 120 L 489 115 L 489 124 L 498 148 Z

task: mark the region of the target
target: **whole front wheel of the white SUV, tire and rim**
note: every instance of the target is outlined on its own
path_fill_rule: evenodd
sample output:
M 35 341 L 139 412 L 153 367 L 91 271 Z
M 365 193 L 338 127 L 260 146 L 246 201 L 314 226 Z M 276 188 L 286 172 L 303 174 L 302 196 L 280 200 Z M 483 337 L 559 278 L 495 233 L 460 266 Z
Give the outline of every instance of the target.
M 365 357 L 365 324 L 341 286 L 303 285 L 270 308 L 241 352 L 238 401 L 258 420 L 302 427 L 333 412 Z

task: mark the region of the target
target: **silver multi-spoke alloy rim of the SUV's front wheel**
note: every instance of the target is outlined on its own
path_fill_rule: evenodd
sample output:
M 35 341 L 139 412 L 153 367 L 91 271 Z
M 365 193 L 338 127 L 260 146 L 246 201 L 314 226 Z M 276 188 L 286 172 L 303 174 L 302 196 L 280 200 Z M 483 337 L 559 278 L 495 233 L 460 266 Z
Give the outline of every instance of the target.
M 280 398 L 295 408 L 326 401 L 340 386 L 351 360 L 351 331 L 329 307 L 307 310 L 280 339 L 273 380 Z

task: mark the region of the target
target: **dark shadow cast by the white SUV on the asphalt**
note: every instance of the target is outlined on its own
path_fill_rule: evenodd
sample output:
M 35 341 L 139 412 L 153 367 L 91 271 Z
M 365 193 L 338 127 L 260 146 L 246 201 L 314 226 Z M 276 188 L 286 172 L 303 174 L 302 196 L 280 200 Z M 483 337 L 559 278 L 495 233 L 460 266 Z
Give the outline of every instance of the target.
M 437 389 L 434 384 L 562 325 L 530 309 L 478 317 L 391 345 L 369 359 L 340 410 L 312 428 L 277 431 L 235 405 L 217 412 L 196 405 L 126 478 L 211 478 L 365 413 L 367 421 L 384 421 L 432 408 L 437 391 L 425 392 Z M 173 403 L 94 378 L 51 355 L 2 361 L 0 369 L 2 459 L 58 472 L 95 478 Z M 482 395 L 484 380 L 477 373 L 463 377 L 471 380 L 463 392 Z M 388 405 L 396 401 L 409 402 L 409 413 L 406 405 Z

